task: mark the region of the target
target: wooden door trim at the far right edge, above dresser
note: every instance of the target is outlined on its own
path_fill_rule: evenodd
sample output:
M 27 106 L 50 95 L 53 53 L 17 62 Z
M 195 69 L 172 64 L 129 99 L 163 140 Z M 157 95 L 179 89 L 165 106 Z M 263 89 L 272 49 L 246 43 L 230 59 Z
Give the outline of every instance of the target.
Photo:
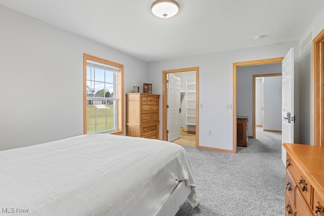
M 313 39 L 313 144 L 324 146 L 324 29 Z

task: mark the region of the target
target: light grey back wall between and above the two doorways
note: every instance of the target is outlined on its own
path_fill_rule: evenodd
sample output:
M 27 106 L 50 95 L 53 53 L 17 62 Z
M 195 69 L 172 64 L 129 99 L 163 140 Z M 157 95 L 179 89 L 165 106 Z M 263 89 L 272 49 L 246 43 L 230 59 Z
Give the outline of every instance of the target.
M 256 41 L 257 46 L 257 41 Z M 162 95 L 162 71 L 199 67 L 199 145 L 232 150 L 233 113 L 226 104 L 233 102 L 233 63 L 284 57 L 290 48 L 298 48 L 298 41 L 252 47 L 206 55 L 148 63 L 150 82 Z M 296 54 L 295 54 L 296 55 Z M 252 80 L 252 78 L 251 78 Z M 252 87 L 251 87 L 252 89 Z M 251 93 L 252 94 L 252 93 Z M 160 109 L 162 107 L 160 106 Z M 162 113 L 160 113 L 160 118 Z M 208 135 L 208 131 L 212 135 Z M 162 135 L 160 125 L 160 137 Z

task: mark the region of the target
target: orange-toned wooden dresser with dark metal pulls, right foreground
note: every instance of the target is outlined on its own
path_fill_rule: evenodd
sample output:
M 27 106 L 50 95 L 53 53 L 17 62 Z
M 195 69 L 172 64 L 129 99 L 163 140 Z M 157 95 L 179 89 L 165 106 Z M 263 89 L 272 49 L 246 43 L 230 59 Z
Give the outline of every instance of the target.
M 324 216 L 324 147 L 282 144 L 286 156 L 286 215 Z

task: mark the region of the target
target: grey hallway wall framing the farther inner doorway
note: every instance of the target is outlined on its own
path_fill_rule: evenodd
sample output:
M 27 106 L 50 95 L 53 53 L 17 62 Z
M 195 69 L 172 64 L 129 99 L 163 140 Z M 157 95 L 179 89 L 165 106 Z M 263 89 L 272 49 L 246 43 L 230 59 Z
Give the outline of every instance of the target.
M 254 129 L 253 75 L 270 73 L 281 73 L 281 63 L 237 67 L 237 115 L 249 116 L 249 136 L 253 136 Z

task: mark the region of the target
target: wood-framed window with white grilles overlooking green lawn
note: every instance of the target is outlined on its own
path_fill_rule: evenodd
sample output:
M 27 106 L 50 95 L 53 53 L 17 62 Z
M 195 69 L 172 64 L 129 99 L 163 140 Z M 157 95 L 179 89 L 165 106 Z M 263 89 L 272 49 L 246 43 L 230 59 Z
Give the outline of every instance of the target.
M 84 134 L 124 133 L 124 65 L 84 54 Z

